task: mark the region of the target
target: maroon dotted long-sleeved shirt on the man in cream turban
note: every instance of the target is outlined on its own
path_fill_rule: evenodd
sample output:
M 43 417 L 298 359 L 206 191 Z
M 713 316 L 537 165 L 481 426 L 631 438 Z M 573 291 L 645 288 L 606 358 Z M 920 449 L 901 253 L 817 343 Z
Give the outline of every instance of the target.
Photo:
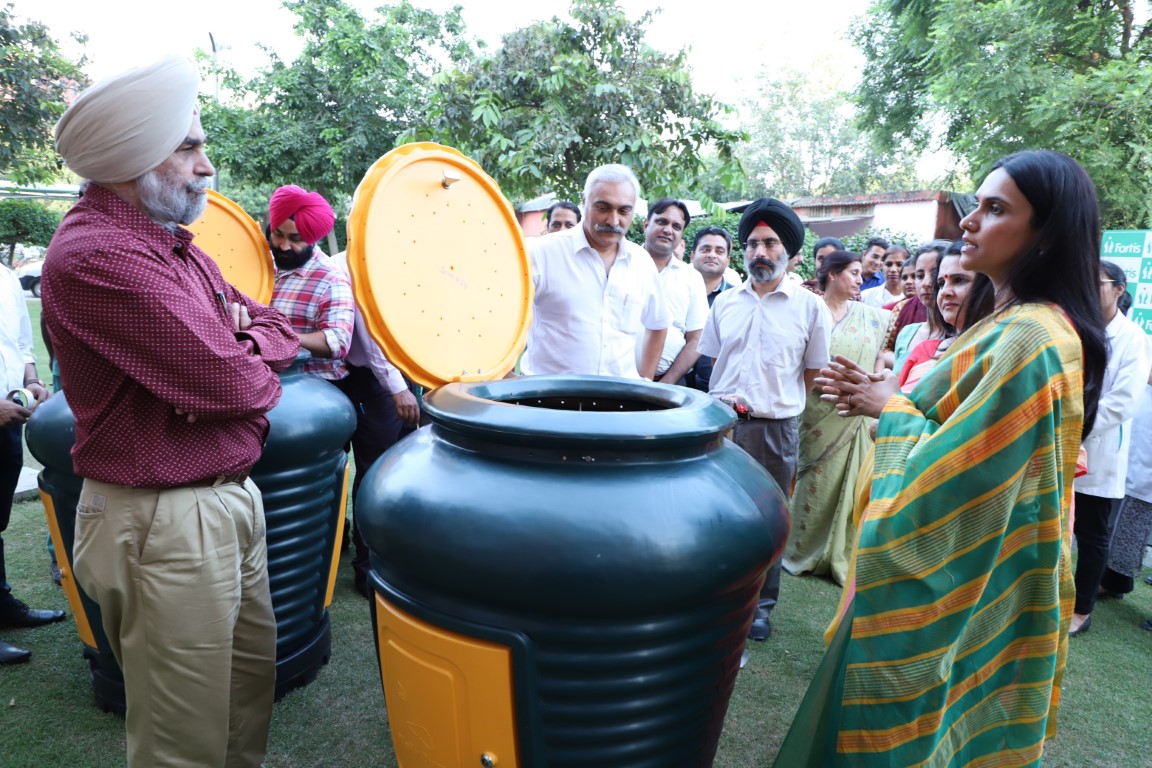
M 190 231 L 89 184 L 52 238 L 41 287 L 77 474 L 168 488 L 256 463 L 276 372 L 300 342 L 282 314 L 225 282 Z M 252 318 L 245 330 L 233 302 Z

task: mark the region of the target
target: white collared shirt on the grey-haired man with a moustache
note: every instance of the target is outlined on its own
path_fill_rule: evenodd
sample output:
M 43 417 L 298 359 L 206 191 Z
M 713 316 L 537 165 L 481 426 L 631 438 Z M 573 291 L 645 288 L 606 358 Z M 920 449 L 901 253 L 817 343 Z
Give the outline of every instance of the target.
M 636 347 L 644 330 L 668 327 L 659 273 L 647 251 L 620 241 L 605 273 L 579 226 L 528 241 L 528 253 L 536 299 L 521 371 L 641 378 Z

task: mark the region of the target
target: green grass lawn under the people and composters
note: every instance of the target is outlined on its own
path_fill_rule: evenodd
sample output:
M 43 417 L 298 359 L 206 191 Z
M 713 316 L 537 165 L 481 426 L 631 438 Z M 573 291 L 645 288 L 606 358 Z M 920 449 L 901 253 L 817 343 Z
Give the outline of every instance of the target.
M 38 336 L 39 302 L 29 309 Z M 47 379 L 47 358 L 40 359 Z M 67 609 L 63 591 L 48 579 L 45 532 L 39 502 L 15 507 L 5 535 L 8 578 L 29 603 Z M 828 581 L 785 576 L 775 634 L 751 644 L 715 766 L 771 766 L 823 655 L 824 629 L 839 594 Z M 276 704 L 267 768 L 395 766 L 367 603 L 353 591 L 347 556 L 331 613 L 332 661 L 312 684 Z M 1145 720 L 1152 714 L 1152 632 L 1139 629 L 1149 617 L 1152 587 L 1140 580 L 1127 599 L 1098 603 L 1092 630 L 1071 640 L 1060 729 L 1047 746 L 1046 768 L 1152 765 Z M 124 765 L 123 721 L 94 706 L 73 623 L 0 631 L 0 638 L 32 651 L 30 663 L 0 668 L 0 766 Z

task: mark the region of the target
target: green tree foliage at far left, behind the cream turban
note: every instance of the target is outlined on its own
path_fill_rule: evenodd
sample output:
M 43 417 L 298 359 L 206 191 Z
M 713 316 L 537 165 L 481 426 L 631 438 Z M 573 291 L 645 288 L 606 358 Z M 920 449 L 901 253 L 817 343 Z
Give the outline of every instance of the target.
M 47 26 L 21 24 L 13 10 L 10 3 L 0 8 L 0 174 L 32 184 L 60 172 L 52 129 L 65 112 L 65 93 L 86 78 Z

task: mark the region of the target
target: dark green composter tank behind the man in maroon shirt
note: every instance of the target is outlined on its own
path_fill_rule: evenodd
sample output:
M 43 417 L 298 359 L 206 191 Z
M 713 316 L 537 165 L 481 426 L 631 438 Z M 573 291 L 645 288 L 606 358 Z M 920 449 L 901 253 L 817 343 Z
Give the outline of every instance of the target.
M 251 473 L 267 523 L 276 698 L 311 682 L 332 653 L 327 592 L 344 516 L 344 446 L 356 428 L 351 403 L 332 385 L 304 374 L 304 359 L 280 374 L 280 403 L 267 415 L 268 439 Z M 26 435 L 29 449 L 44 464 L 39 486 L 51 500 L 63 545 L 56 555 L 70 561 L 82 479 L 73 473 L 75 421 L 62 393 L 32 412 Z M 70 562 L 66 569 L 71 571 Z M 71 583 L 94 639 L 94 645 L 84 642 L 84 655 L 97 704 L 123 713 L 123 676 L 104 633 L 100 608 Z

